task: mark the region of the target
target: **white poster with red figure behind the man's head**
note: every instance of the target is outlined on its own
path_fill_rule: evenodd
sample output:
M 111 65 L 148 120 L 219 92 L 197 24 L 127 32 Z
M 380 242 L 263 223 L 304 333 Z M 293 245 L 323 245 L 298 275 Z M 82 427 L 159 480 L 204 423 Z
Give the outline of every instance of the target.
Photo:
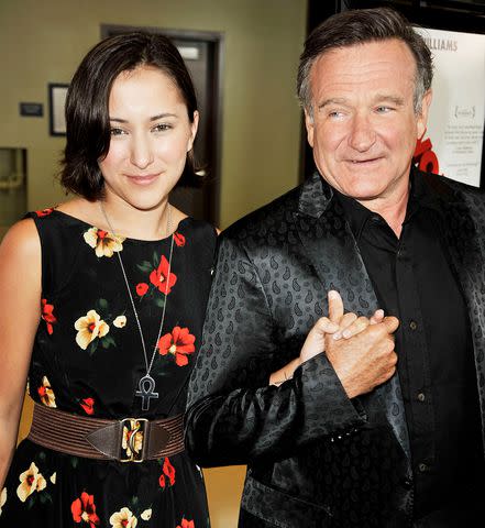
M 478 187 L 485 120 L 485 35 L 418 28 L 434 63 L 428 130 L 416 164 Z

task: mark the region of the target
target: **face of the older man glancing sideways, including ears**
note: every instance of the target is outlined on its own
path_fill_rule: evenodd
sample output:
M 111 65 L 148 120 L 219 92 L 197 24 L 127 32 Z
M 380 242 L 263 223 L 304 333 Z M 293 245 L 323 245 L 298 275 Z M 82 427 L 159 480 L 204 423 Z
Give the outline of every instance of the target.
M 426 130 L 431 94 L 414 109 L 416 62 L 398 40 L 323 53 L 310 72 L 308 142 L 335 189 L 364 206 L 407 191 L 416 140 Z

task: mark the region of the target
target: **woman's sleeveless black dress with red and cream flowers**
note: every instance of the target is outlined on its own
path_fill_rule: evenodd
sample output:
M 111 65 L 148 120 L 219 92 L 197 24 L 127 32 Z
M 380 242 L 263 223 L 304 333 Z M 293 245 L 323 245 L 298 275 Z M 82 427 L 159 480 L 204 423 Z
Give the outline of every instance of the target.
M 55 209 L 30 213 L 42 245 L 42 318 L 29 371 L 38 404 L 81 416 L 165 418 L 186 407 L 200 344 L 217 233 L 184 219 L 170 238 L 123 239 Z M 145 361 L 120 251 L 152 356 L 158 399 L 135 396 Z M 20 321 L 21 322 L 21 321 Z M 19 328 L 19 331 L 22 331 Z M 0 492 L 0 527 L 206 528 L 202 474 L 184 451 L 122 463 L 78 458 L 30 440 L 14 454 Z

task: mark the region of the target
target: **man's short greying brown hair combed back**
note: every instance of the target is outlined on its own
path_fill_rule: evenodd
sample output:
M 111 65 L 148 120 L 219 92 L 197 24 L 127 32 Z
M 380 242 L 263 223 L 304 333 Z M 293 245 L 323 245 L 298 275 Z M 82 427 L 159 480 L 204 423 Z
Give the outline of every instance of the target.
M 433 77 L 431 52 L 409 21 L 389 8 L 344 11 L 330 16 L 311 32 L 298 68 L 297 92 L 300 105 L 312 116 L 310 73 L 320 55 L 330 50 L 390 38 L 404 42 L 416 59 L 414 106 L 415 112 L 420 113 L 422 98 L 431 88 Z

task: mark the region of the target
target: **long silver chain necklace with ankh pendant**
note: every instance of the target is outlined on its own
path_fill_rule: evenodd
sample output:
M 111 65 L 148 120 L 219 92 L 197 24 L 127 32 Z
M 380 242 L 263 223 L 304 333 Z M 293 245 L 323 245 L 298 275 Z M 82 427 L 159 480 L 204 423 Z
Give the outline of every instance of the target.
M 114 233 L 114 229 L 111 226 L 110 219 L 108 218 L 108 215 L 104 210 L 104 206 L 103 206 L 102 201 L 99 202 L 99 207 L 101 208 L 101 212 L 102 212 L 102 215 L 103 215 L 103 217 L 104 217 L 104 219 L 106 219 L 106 221 L 107 221 L 107 223 L 108 223 L 108 226 L 111 230 L 111 233 L 113 234 L 113 237 L 117 237 L 117 234 Z M 167 228 L 166 229 L 167 229 L 167 234 L 170 233 L 170 231 L 172 231 L 172 208 L 170 208 L 170 205 L 168 202 L 167 202 Z M 145 373 L 144 376 L 142 376 L 140 378 L 139 389 L 135 392 L 135 396 L 139 396 L 139 397 L 142 398 L 142 409 L 143 410 L 148 410 L 151 399 L 158 399 L 158 393 L 155 393 L 155 391 L 154 391 L 155 380 L 150 375 L 150 372 L 152 371 L 153 362 L 155 361 L 156 350 L 158 348 L 158 341 L 159 341 L 159 338 L 162 336 L 162 329 L 164 327 L 164 321 L 165 321 L 165 309 L 167 307 L 168 286 L 169 286 L 169 283 L 170 283 L 172 254 L 173 254 L 173 252 L 174 252 L 174 233 L 172 233 L 170 253 L 169 253 L 169 256 L 168 256 L 168 273 L 167 273 L 167 277 L 165 278 L 165 302 L 164 302 L 164 307 L 162 309 L 162 320 L 161 320 L 161 323 L 159 323 L 158 336 L 156 337 L 155 346 L 153 349 L 153 353 L 152 353 L 152 358 L 150 359 L 150 362 L 148 362 L 148 356 L 146 354 L 145 338 L 143 337 L 142 326 L 140 323 L 140 318 L 139 318 L 139 314 L 137 314 L 136 308 L 135 308 L 135 304 L 134 304 L 134 300 L 133 300 L 133 295 L 131 293 L 130 283 L 128 282 L 128 276 L 126 276 L 126 272 L 124 270 L 123 260 L 121 258 L 121 252 L 120 251 L 115 252 L 117 255 L 118 255 L 118 260 L 120 262 L 121 271 L 123 272 L 124 284 L 126 285 L 128 295 L 130 296 L 130 301 L 131 301 L 131 306 L 133 308 L 133 314 L 135 316 L 136 326 L 139 327 L 140 339 L 142 341 L 143 358 L 145 359 L 146 373 Z

